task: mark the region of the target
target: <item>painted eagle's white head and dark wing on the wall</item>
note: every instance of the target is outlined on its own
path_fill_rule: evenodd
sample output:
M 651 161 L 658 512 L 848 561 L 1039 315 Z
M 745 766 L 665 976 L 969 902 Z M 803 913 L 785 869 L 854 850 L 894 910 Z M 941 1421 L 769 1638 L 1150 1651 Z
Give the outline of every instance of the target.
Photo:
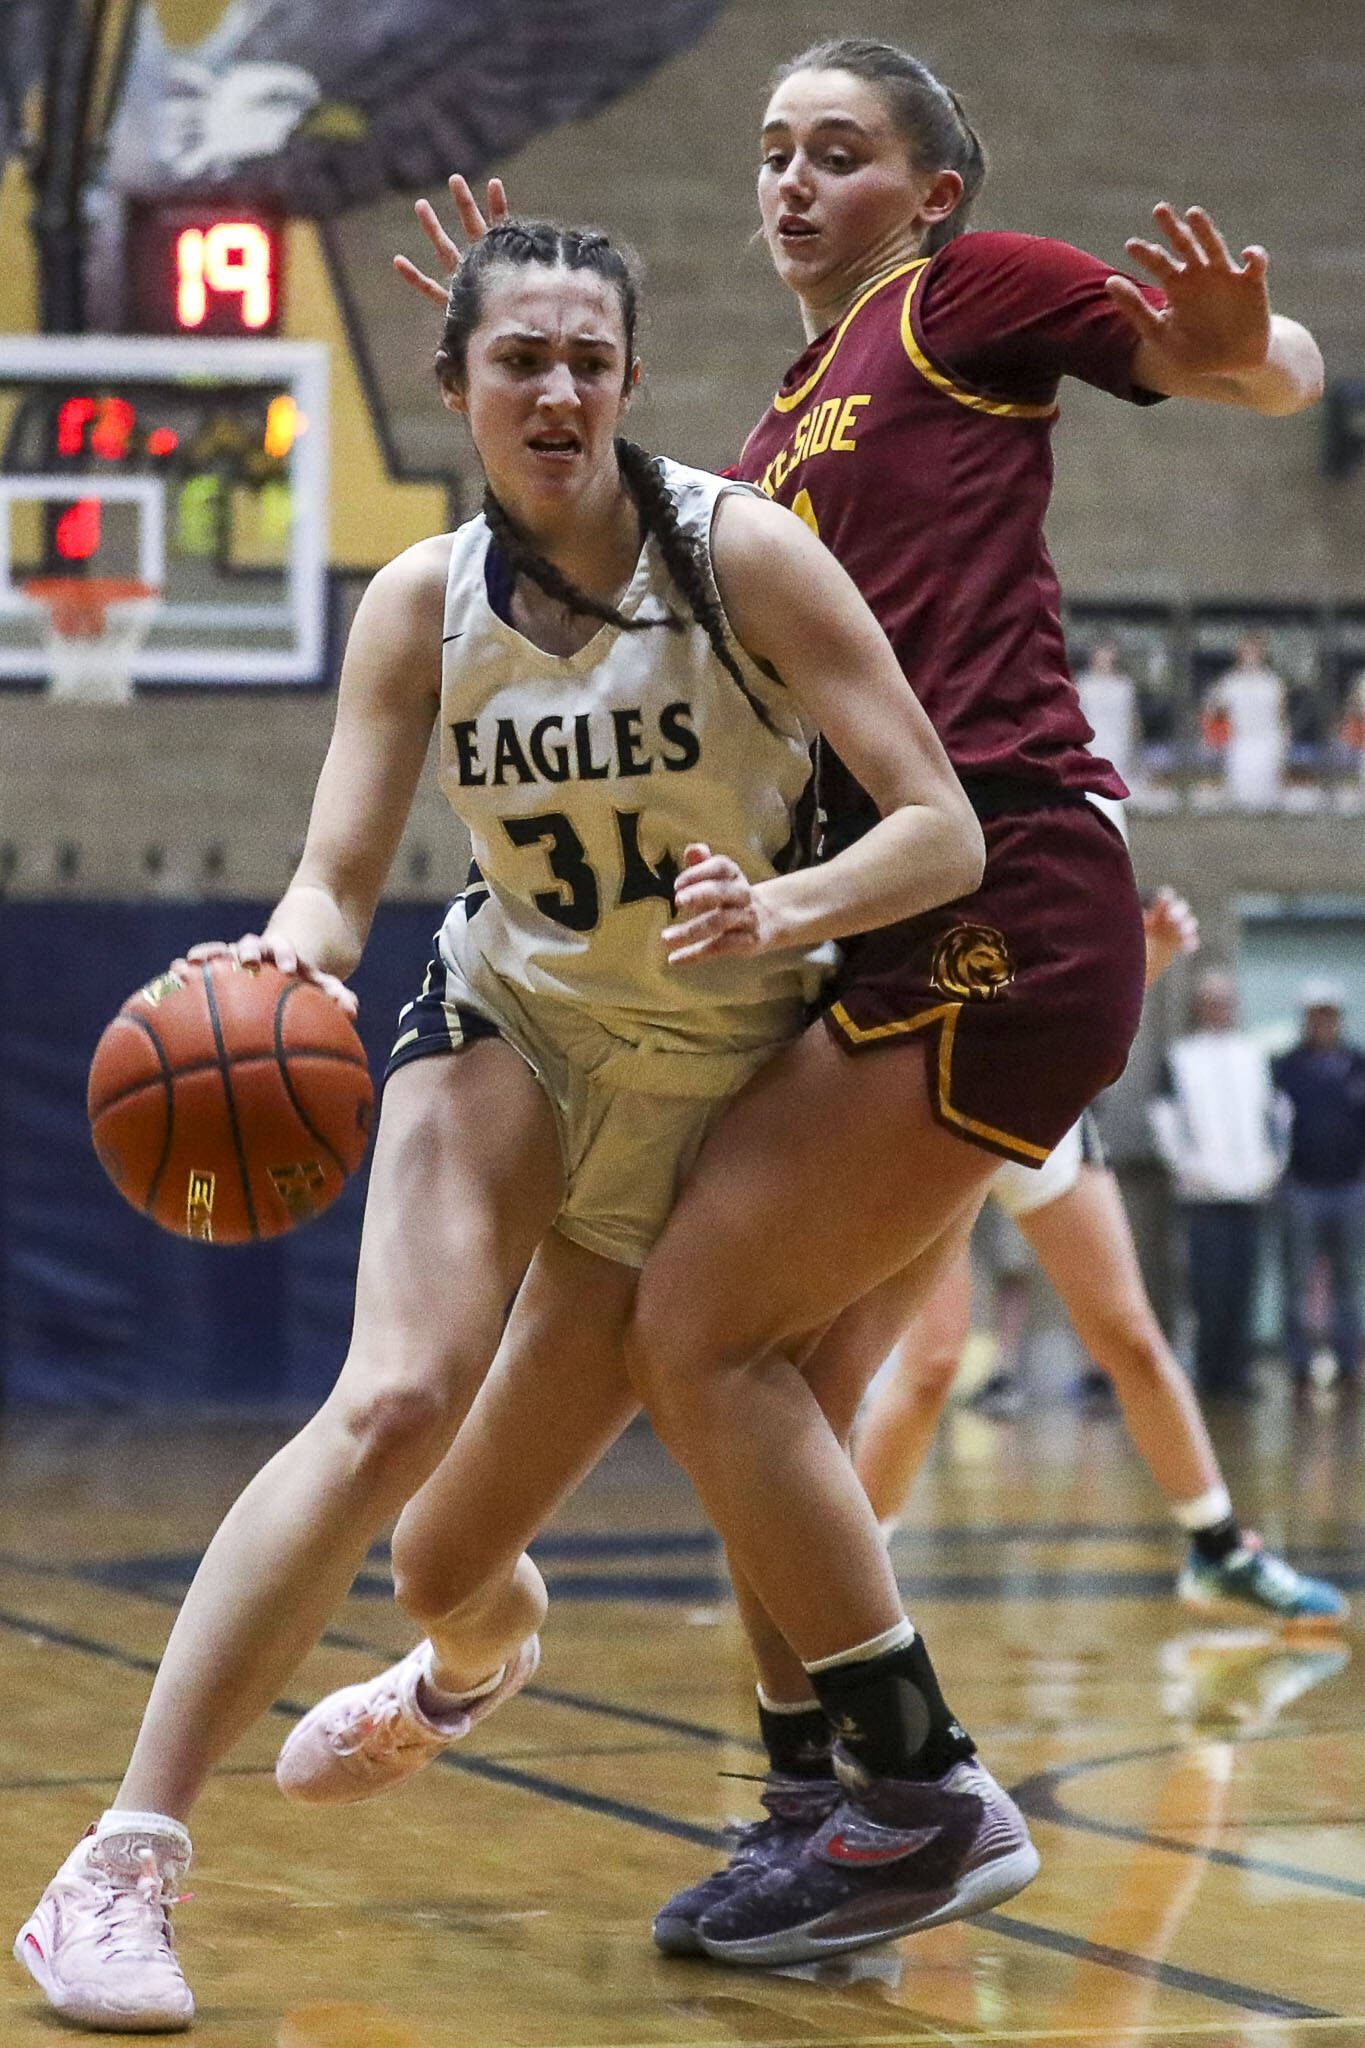
M 250 190 L 325 217 L 477 176 L 628 92 L 724 0 L 141 0 L 102 180 L 125 197 Z M 209 6 L 211 12 L 211 6 Z

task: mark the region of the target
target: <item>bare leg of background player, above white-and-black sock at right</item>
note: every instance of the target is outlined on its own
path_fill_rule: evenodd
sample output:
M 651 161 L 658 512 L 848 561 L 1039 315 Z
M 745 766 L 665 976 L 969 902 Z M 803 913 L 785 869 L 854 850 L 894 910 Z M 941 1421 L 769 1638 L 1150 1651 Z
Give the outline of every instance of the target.
M 1081 1343 L 1113 1380 L 1138 1456 L 1173 1503 L 1222 1487 L 1199 1401 L 1146 1296 L 1113 1174 L 1081 1167 L 1074 1188 L 1019 1217 Z

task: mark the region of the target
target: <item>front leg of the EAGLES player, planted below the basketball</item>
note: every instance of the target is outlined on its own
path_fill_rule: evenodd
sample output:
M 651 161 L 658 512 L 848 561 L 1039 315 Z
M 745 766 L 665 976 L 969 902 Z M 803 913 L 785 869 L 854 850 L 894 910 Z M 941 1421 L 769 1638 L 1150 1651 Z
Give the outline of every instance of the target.
M 256 1475 L 180 1608 L 117 1806 L 184 1819 L 434 1468 L 561 1200 L 555 1120 L 508 1047 L 403 1067 L 385 1092 L 342 1376 Z

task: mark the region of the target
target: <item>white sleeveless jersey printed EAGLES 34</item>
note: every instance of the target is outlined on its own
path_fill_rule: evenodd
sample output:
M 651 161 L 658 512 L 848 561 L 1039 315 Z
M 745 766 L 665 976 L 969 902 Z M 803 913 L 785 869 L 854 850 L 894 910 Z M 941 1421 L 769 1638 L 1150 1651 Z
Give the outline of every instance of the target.
M 663 475 L 718 604 L 712 518 L 745 485 L 669 461 Z M 833 948 L 677 969 L 659 934 L 688 842 L 753 881 L 790 854 L 812 737 L 794 700 L 731 635 L 745 696 L 653 537 L 618 608 L 671 612 L 684 631 L 604 625 L 573 655 L 544 653 L 493 610 L 489 543 L 483 516 L 460 526 L 446 584 L 440 780 L 477 872 L 446 915 L 442 956 L 475 981 L 491 969 L 534 999 L 620 1024 L 636 1049 L 645 1032 L 655 1069 L 671 1053 L 772 1044 Z M 690 1090 L 679 1075 L 659 1092 Z

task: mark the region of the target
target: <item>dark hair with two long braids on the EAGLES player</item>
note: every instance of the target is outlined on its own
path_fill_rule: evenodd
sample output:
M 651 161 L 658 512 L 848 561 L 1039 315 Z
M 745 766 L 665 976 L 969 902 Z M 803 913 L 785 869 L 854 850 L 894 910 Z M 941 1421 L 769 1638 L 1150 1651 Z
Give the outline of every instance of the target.
M 495 264 L 544 264 L 546 268 L 589 270 L 604 279 L 620 301 L 620 315 L 626 340 L 626 379 L 634 362 L 634 332 L 639 324 L 639 264 L 628 250 L 616 248 L 600 229 L 557 227 L 553 221 L 497 221 L 481 242 L 463 258 L 450 281 L 446 299 L 446 326 L 436 350 L 436 377 L 444 387 L 463 385 L 469 365 L 469 338 L 483 315 L 483 279 Z M 706 565 L 700 541 L 688 535 L 677 520 L 677 506 L 663 477 L 659 457 L 649 455 L 632 440 L 616 442 L 616 461 L 626 489 L 630 492 L 641 528 L 653 535 L 663 565 L 677 592 L 688 600 L 688 610 L 702 627 L 720 668 L 743 692 L 749 709 L 772 731 L 767 707 L 749 688 L 745 674 L 731 649 L 724 612 Z M 505 555 L 514 575 L 524 575 L 548 598 L 571 612 L 602 618 L 622 633 L 649 633 L 663 627 L 669 633 L 686 631 L 684 618 L 675 610 L 665 610 L 659 618 L 626 618 L 614 604 L 593 598 L 581 590 L 573 578 L 557 569 L 518 526 L 508 508 L 497 500 L 491 485 L 483 492 L 483 516 L 497 547 Z

